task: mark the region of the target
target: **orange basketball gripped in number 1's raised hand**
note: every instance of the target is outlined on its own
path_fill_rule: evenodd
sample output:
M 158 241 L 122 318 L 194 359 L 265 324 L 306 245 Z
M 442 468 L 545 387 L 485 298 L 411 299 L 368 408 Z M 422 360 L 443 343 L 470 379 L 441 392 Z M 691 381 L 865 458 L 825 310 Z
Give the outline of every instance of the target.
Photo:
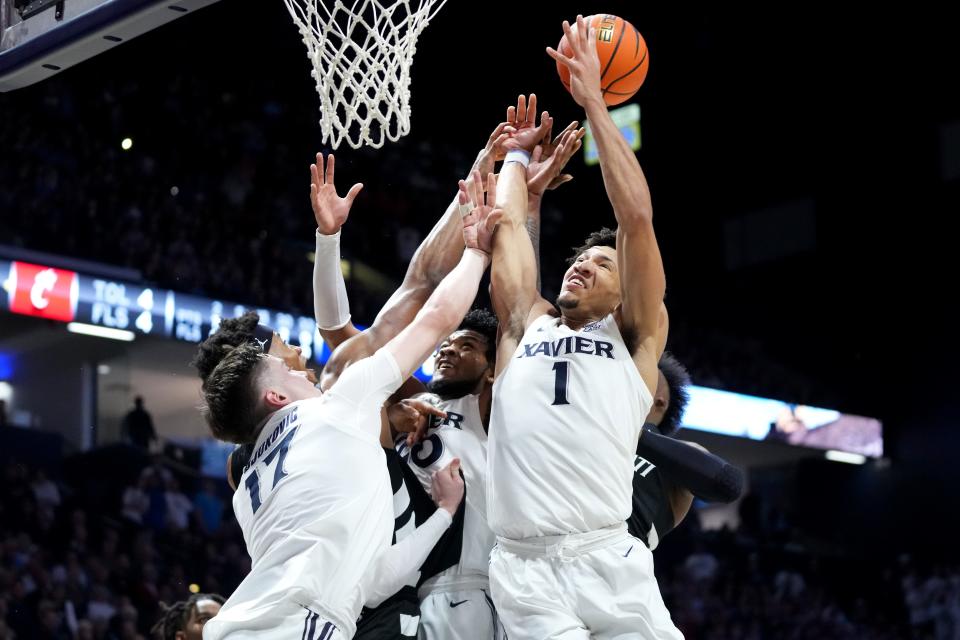
M 585 22 L 597 30 L 597 53 L 600 56 L 600 88 L 608 106 L 629 100 L 637 92 L 650 66 L 647 43 L 636 27 L 617 16 L 597 14 L 587 16 Z M 576 32 L 576 23 L 572 24 Z M 567 36 L 560 38 L 557 51 L 573 56 Z M 560 81 L 570 91 L 570 69 L 558 62 Z

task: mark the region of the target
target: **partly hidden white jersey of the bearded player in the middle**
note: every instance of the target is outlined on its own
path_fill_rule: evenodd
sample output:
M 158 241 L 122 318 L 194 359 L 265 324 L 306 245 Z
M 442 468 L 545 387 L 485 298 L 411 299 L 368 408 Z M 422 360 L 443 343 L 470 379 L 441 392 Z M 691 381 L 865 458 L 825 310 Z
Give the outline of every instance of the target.
M 429 493 L 433 473 L 460 458 L 467 504 L 458 564 L 427 580 L 422 592 L 465 587 L 471 578 L 480 578 L 474 582 L 478 582 L 478 587 L 485 586 L 490 550 L 497 541 L 487 524 L 487 433 L 480 416 L 480 397 L 466 395 L 442 400 L 438 406 L 447 412 L 447 418 L 431 427 L 424 439 L 410 449 L 410 468 Z M 407 454 L 404 440 L 398 441 L 397 448 L 402 456 Z

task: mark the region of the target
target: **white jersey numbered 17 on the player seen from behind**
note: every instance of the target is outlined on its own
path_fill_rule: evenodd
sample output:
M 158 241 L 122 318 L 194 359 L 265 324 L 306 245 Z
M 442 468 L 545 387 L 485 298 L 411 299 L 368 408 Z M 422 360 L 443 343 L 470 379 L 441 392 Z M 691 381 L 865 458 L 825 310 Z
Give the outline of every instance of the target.
M 390 547 L 393 494 L 380 446 L 380 407 L 401 383 L 381 349 L 323 396 L 270 417 L 233 496 L 251 570 L 205 640 L 307 607 L 353 637 Z

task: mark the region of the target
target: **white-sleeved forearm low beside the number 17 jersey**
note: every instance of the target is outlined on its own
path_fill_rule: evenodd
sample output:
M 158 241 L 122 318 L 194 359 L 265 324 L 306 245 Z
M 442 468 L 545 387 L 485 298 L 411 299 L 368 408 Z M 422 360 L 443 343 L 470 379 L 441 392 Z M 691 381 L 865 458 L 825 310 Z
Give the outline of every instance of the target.
M 366 605 L 379 606 L 404 586 L 415 585 L 420 567 L 452 522 L 453 516 L 437 509 L 413 533 L 384 552 L 376 565 L 374 591 L 367 594 Z

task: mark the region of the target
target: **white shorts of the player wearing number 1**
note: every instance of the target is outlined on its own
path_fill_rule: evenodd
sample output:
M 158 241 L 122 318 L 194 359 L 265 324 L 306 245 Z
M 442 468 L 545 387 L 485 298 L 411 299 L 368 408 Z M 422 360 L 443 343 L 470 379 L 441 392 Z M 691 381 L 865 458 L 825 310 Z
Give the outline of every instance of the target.
M 682 640 L 626 525 L 569 536 L 500 539 L 490 590 L 510 640 Z

